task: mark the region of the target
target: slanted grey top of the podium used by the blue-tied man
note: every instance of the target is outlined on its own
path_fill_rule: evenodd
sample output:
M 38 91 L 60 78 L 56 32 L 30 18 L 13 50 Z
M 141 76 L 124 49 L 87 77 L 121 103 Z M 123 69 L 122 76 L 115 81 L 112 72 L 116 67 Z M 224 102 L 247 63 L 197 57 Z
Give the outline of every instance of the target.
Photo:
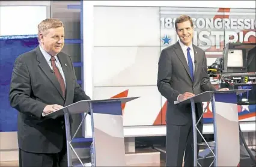
M 184 104 L 184 103 L 190 103 L 190 99 L 194 99 L 195 103 L 201 103 L 201 102 L 210 102 L 210 100 L 212 99 L 212 94 L 214 93 L 236 93 L 241 94 L 241 93 L 245 93 L 247 91 L 250 91 L 250 89 L 245 89 L 245 90 L 228 90 L 228 91 L 205 91 L 204 93 L 200 93 L 197 94 L 194 97 L 190 97 L 189 99 L 183 100 L 183 101 L 175 101 L 174 105 L 177 104 Z

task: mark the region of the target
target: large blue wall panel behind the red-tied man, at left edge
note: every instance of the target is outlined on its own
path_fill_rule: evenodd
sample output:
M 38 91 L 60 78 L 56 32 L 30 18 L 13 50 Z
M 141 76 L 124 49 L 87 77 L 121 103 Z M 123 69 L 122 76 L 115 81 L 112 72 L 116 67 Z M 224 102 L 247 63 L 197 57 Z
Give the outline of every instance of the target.
M 38 46 L 37 35 L 0 37 L 0 132 L 17 131 L 17 111 L 8 99 L 14 61 L 22 53 Z

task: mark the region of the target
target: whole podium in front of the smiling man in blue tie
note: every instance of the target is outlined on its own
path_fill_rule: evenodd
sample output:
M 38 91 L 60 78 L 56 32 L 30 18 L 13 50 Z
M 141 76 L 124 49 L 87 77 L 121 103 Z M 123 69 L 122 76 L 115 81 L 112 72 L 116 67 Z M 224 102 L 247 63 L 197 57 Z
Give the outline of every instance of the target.
M 213 154 L 213 162 L 210 166 L 238 166 L 240 163 L 240 141 L 239 141 L 239 118 L 237 114 L 237 95 L 248 90 L 228 90 L 228 91 L 206 91 L 197 96 L 174 102 L 175 105 L 185 103 L 191 104 L 193 139 L 194 139 L 194 166 L 202 166 L 197 158 L 197 132 L 206 143 Z M 207 144 L 206 139 L 197 128 L 203 115 L 196 120 L 195 103 L 212 102 L 213 130 L 214 130 L 214 151 Z M 203 112 L 204 114 L 204 112 Z M 204 157 L 206 158 L 206 157 Z

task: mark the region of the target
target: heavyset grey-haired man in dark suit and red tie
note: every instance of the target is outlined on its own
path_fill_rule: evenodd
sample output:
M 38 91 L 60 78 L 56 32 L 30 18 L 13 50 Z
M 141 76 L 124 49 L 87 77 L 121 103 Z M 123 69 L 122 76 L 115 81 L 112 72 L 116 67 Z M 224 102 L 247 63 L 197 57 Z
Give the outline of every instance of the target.
M 19 111 L 19 166 L 67 166 L 64 117 L 42 114 L 90 97 L 77 83 L 72 59 L 61 52 L 64 24 L 43 20 L 38 41 L 38 47 L 16 59 L 10 83 L 10 104 Z

